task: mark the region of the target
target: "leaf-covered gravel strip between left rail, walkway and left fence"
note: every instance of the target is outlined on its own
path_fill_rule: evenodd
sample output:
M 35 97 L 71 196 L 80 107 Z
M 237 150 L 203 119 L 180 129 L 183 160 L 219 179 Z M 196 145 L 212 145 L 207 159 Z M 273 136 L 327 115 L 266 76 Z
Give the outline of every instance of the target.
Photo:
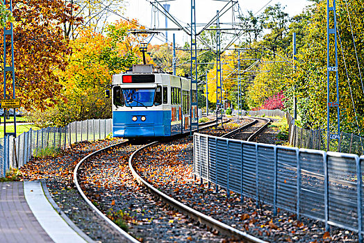
M 21 168 L 23 181 L 45 180 L 54 201 L 78 228 L 96 242 L 123 242 L 124 237 L 104 223 L 83 200 L 73 183 L 79 160 L 98 149 L 122 142 L 119 139 L 72 144 L 57 158 L 34 159 Z

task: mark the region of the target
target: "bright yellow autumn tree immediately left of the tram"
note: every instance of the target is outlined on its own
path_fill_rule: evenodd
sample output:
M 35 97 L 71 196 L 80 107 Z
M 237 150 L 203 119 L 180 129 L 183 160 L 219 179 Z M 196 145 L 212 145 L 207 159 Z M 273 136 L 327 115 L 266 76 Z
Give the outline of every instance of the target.
M 47 124 L 65 126 L 71 121 L 111 117 L 110 99 L 104 97 L 106 85 L 111 84 L 113 74 L 125 72 L 142 59 L 137 38 L 129 34 L 131 24 L 137 22 L 110 24 L 105 34 L 84 28 L 69 42 L 68 65 L 58 72 L 65 102 L 42 113 Z

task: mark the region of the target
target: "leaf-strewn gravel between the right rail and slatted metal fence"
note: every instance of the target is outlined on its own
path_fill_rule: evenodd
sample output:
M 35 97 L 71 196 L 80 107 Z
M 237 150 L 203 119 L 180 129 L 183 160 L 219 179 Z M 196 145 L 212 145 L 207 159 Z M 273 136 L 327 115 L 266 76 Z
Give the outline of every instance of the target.
M 264 142 L 260 136 L 260 142 Z M 191 138 L 158 144 L 143 151 L 135 160 L 135 169 L 144 179 L 187 206 L 206 215 L 245 231 L 269 242 L 357 242 L 357 234 L 331 227 L 331 233 L 324 231 L 320 221 L 301 217 L 295 219 L 290 212 L 279 210 L 274 217 L 272 207 L 231 193 L 215 192 L 207 183 L 199 184 L 192 172 L 193 145 Z

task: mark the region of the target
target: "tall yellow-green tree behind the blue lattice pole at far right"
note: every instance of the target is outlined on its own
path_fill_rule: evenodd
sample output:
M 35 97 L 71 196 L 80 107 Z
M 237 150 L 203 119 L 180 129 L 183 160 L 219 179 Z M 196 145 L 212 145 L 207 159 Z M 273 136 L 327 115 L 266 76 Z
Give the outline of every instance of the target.
M 358 125 L 359 128 L 364 128 L 364 88 L 361 76 L 364 71 L 364 42 L 359 35 L 364 28 L 363 12 L 364 6 L 361 1 L 354 0 L 350 4 L 344 0 L 336 1 L 340 124 L 343 131 L 356 133 L 358 133 Z M 299 50 L 297 57 L 297 72 L 289 81 L 291 81 L 291 87 L 296 87 L 295 95 L 298 97 L 299 114 L 304 126 L 324 128 L 327 102 L 326 2 L 317 3 L 306 31 L 305 46 Z M 334 56 L 333 48 L 330 49 L 330 55 Z M 336 78 L 333 74 L 330 78 L 332 82 L 330 83 L 330 99 L 336 101 Z M 336 130 L 336 115 L 336 109 L 331 109 L 330 121 L 333 131 Z

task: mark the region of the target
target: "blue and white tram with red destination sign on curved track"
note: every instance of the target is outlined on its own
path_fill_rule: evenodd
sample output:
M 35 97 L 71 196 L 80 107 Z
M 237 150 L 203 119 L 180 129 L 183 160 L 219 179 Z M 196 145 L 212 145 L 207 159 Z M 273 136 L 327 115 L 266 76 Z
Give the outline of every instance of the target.
M 188 78 L 171 74 L 113 75 L 113 136 L 165 137 L 187 131 L 190 85 Z M 196 92 L 195 86 L 192 92 Z M 192 106 L 192 119 L 197 117 L 197 107 Z

